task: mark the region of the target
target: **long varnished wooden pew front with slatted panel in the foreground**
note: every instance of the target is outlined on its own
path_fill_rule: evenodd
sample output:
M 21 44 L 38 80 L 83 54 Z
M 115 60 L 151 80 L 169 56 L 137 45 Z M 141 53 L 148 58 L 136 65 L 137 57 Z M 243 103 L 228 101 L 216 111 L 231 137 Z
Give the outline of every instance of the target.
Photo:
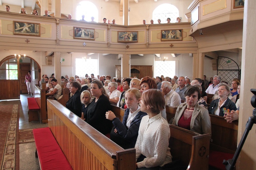
M 135 149 L 119 147 L 55 100 L 47 100 L 48 124 L 75 170 L 135 170 Z

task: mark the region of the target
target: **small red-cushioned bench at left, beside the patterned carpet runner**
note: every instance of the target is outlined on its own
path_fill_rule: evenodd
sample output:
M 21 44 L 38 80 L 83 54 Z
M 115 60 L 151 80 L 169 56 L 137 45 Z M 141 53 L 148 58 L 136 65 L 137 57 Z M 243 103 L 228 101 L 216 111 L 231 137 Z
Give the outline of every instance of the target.
M 38 121 L 38 111 L 40 110 L 39 105 L 35 98 L 30 97 L 28 100 L 28 122 Z

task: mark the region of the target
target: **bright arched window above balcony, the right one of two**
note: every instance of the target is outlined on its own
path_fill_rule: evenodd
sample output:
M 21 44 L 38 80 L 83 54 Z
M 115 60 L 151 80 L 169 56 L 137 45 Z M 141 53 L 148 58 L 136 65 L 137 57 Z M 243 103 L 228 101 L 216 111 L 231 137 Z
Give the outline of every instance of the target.
M 161 23 L 167 23 L 167 18 L 170 18 L 171 23 L 175 23 L 177 17 L 179 17 L 178 8 L 172 4 L 164 3 L 155 8 L 152 19 L 154 23 L 158 23 L 158 19 L 161 20 Z

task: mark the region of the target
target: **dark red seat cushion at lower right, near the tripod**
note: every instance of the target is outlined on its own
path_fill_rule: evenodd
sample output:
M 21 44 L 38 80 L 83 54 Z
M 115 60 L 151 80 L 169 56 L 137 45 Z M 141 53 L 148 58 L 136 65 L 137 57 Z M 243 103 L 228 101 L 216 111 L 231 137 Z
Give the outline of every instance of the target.
M 223 165 L 222 162 L 224 159 L 232 159 L 233 156 L 234 154 L 231 153 L 210 150 L 209 165 L 217 169 L 226 170 L 225 165 Z

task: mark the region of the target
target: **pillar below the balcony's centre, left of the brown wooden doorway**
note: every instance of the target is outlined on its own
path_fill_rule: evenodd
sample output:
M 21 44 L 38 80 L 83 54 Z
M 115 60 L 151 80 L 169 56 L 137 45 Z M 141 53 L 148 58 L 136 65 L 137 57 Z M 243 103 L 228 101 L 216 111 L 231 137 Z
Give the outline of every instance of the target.
M 121 56 L 121 77 L 130 78 L 131 75 L 131 55 L 123 54 Z

